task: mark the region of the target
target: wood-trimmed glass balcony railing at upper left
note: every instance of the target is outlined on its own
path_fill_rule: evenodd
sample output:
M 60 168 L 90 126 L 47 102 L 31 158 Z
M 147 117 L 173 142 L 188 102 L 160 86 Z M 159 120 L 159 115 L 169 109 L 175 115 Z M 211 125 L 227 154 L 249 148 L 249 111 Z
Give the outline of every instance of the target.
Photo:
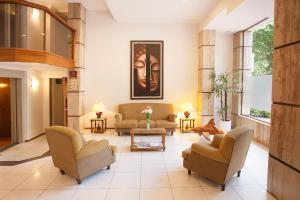
M 47 7 L 0 1 L 0 48 L 44 51 L 73 59 L 75 30 Z

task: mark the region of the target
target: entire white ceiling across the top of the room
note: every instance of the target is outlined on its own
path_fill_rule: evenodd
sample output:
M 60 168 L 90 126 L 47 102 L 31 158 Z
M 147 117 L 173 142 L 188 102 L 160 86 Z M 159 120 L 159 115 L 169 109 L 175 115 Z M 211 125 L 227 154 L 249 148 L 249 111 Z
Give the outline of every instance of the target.
M 30 0 L 58 12 L 68 2 L 82 3 L 87 10 L 110 11 L 118 22 L 195 23 L 199 29 L 236 32 L 269 18 L 274 0 Z

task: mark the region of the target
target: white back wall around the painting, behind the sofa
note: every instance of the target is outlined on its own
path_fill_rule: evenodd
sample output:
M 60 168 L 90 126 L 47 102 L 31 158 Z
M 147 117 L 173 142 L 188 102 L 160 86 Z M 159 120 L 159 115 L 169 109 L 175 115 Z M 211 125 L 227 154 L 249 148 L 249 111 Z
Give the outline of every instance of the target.
M 85 48 L 86 111 L 102 102 L 114 126 L 113 112 L 130 100 L 130 41 L 164 41 L 164 99 L 178 111 L 183 103 L 196 107 L 198 30 L 191 24 L 118 23 L 106 12 L 87 12 Z M 150 102 L 146 100 L 144 102 Z M 94 114 L 92 114 L 94 116 Z M 85 126 L 89 126 L 86 115 Z

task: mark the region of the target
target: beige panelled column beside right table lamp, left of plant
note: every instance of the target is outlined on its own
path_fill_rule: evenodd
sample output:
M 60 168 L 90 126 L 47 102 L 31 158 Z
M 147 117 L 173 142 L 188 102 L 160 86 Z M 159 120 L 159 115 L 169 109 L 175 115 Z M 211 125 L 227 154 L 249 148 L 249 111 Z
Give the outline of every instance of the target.
M 216 32 L 213 30 L 202 30 L 199 33 L 198 109 L 201 124 L 214 117 L 214 95 L 209 97 L 209 75 L 215 70 L 215 36 Z

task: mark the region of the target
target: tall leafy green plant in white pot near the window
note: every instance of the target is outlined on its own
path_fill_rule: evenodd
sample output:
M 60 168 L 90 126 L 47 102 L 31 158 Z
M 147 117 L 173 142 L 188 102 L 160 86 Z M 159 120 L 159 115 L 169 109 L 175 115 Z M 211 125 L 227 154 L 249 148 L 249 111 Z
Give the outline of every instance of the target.
M 209 75 L 211 82 L 211 94 L 220 100 L 218 108 L 219 122 L 218 126 L 221 130 L 228 132 L 231 130 L 231 120 L 228 119 L 228 94 L 239 91 L 239 76 L 238 72 L 224 72 L 216 74 L 214 71 Z

